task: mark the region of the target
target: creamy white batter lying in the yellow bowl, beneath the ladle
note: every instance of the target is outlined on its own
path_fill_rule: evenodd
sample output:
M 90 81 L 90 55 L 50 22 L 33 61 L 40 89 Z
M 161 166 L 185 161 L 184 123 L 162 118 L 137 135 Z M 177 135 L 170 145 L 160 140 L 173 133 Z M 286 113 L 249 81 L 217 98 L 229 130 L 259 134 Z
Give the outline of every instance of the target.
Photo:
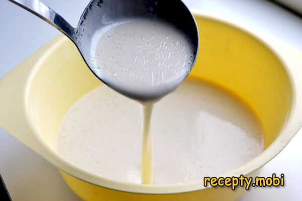
M 66 114 L 57 152 L 93 174 L 141 183 L 142 119 L 140 104 L 102 85 Z M 152 124 L 154 184 L 219 176 L 264 149 L 263 130 L 249 108 L 192 78 L 155 105 Z

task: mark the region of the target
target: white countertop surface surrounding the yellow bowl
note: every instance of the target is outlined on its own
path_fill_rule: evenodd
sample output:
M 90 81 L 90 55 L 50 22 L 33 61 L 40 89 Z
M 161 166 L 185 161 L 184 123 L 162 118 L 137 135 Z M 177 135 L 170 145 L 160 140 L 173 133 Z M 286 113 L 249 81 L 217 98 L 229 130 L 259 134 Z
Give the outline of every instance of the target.
M 89 0 L 42 1 L 70 24 L 78 20 Z M 302 51 L 302 19 L 262 0 L 185 0 L 189 8 L 246 23 Z M 29 12 L 1 1 L 0 78 L 60 33 Z M 70 8 L 70 9 L 66 9 Z M 1 97 L 0 97 L 1 98 Z M 302 104 L 302 103 L 301 103 Z M 241 201 L 302 200 L 302 131 L 266 164 L 259 176 L 285 174 L 285 186 L 254 188 Z M 79 200 L 57 169 L 0 128 L 0 173 L 12 198 L 18 200 Z

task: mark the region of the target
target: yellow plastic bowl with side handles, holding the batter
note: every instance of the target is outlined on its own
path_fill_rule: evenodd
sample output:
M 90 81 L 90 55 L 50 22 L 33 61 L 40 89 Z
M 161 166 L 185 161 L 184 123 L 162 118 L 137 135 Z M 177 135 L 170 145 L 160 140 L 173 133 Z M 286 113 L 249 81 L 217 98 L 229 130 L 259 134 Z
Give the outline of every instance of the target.
M 263 153 L 220 176 L 256 176 L 302 124 L 302 53 L 244 25 L 198 12 L 195 17 L 200 51 L 190 76 L 240 97 L 255 111 L 265 133 Z M 151 186 L 118 182 L 61 159 L 55 141 L 62 118 L 100 84 L 74 45 L 58 37 L 0 80 L 0 126 L 58 167 L 84 200 L 236 200 L 243 195 L 243 188 L 204 187 L 201 181 Z

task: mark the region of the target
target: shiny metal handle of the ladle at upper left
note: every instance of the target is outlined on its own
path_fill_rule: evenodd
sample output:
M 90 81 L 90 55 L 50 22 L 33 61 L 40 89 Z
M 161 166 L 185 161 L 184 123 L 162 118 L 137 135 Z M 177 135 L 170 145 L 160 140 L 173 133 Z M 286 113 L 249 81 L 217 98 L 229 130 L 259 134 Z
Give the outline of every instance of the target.
M 32 14 L 38 16 L 50 25 L 65 34 L 73 42 L 77 41 L 75 29 L 51 8 L 38 0 L 9 0 L 10 2 L 26 9 Z

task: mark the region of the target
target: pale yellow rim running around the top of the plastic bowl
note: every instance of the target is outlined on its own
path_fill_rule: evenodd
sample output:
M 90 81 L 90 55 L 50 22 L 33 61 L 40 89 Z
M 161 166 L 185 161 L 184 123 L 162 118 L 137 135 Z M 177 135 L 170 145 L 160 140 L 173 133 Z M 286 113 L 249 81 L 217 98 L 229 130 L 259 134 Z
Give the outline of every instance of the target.
M 252 173 L 265 165 L 267 162 L 269 162 L 271 159 L 273 159 L 285 146 L 286 144 L 291 140 L 291 138 L 294 136 L 295 132 L 289 132 L 292 130 L 293 125 L 291 126 L 291 129 L 287 128 L 288 123 L 292 120 L 292 111 L 294 111 L 296 106 L 296 89 L 294 88 L 295 85 L 292 82 L 291 74 L 289 70 L 289 66 L 284 61 L 283 57 L 275 51 L 274 47 L 272 47 L 270 44 L 268 44 L 266 41 L 264 41 L 261 38 L 261 33 L 256 34 L 253 30 L 250 30 L 247 26 L 241 25 L 239 23 L 231 22 L 226 19 L 222 19 L 221 17 L 215 16 L 210 13 L 206 13 L 199 10 L 191 10 L 195 18 L 206 18 L 209 20 L 213 20 L 216 22 L 223 23 L 225 25 L 229 25 L 231 27 L 234 27 L 240 31 L 243 31 L 244 33 L 247 33 L 249 36 L 255 38 L 259 42 L 261 42 L 265 47 L 267 47 L 276 57 L 277 59 L 282 63 L 283 67 L 287 71 L 287 74 L 289 76 L 289 80 L 291 82 L 292 89 L 292 108 L 289 111 L 289 117 L 284 122 L 284 127 L 280 131 L 279 136 L 273 141 L 273 143 L 267 147 L 261 154 L 256 156 L 254 159 L 249 161 L 248 163 L 245 163 L 244 165 L 233 169 L 229 172 L 223 173 L 219 176 L 226 177 L 226 176 L 240 176 L 241 174 L 247 175 L 249 173 Z M 122 191 L 122 192 L 129 192 L 129 193 L 138 193 L 138 194 L 178 194 L 178 193 L 188 193 L 193 191 L 200 191 L 205 190 L 208 188 L 212 188 L 211 186 L 204 186 L 203 181 L 194 181 L 194 182 L 187 182 L 187 183 L 181 183 L 181 184 L 165 184 L 165 185 L 145 185 L 145 184 L 134 184 L 134 183 L 128 183 L 128 182 L 122 182 L 122 181 L 116 181 L 112 179 L 108 179 L 105 177 L 97 176 L 92 173 L 89 173 L 87 171 L 84 171 L 67 161 L 63 160 L 54 150 L 52 150 L 46 142 L 42 139 L 42 137 L 39 134 L 38 129 L 34 125 L 33 121 L 31 121 L 32 117 L 30 117 L 30 111 L 28 109 L 28 94 L 30 90 L 31 82 L 35 76 L 35 72 L 39 69 L 41 64 L 48 58 L 48 56 L 54 52 L 57 48 L 59 48 L 64 42 L 66 42 L 68 39 L 66 37 L 62 37 L 60 40 L 56 41 L 54 44 L 51 45 L 50 48 L 48 48 L 45 52 L 43 52 L 42 56 L 37 60 L 35 63 L 32 72 L 30 74 L 30 77 L 26 83 L 26 92 L 25 92 L 25 114 L 28 121 L 28 124 L 33 131 L 35 137 L 37 140 L 41 143 L 41 145 L 46 149 L 48 154 L 50 154 L 52 159 L 49 159 L 49 161 L 54 164 L 57 168 L 62 170 L 63 172 L 78 178 L 82 181 L 88 182 L 90 184 L 100 186 L 102 188 Z M 287 122 L 286 122 L 287 121 Z M 296 126 L 296 125 L 295 125 Z M 55 160 L 55 162 L 54 162 Z

